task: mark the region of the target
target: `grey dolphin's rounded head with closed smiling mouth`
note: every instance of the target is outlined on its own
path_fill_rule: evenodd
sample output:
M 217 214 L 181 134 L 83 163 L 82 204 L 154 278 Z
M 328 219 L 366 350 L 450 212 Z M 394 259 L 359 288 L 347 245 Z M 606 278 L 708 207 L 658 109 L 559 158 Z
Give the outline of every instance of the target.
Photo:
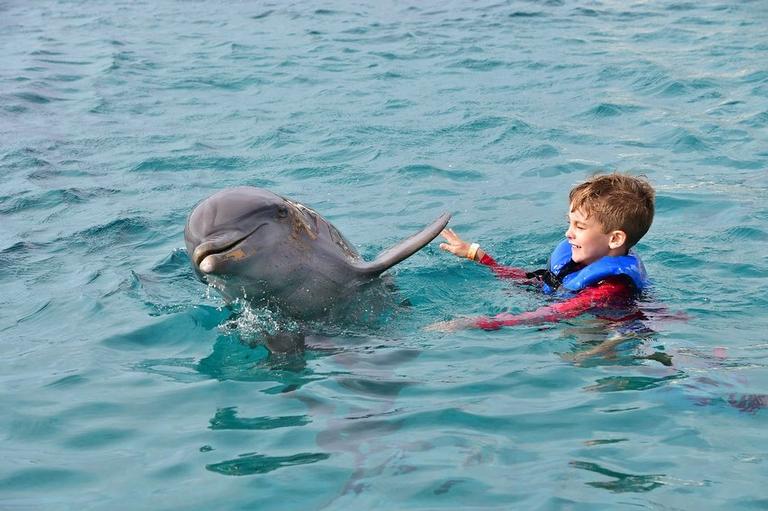
M 209 281 L 291 280 L 295 258 L 285 251 L 295 243 L 285 241 L 312 235 L 307 211 L 261 188 L 222 190 L 200 202 L 187 219 L 184 240 L 192 266 Z

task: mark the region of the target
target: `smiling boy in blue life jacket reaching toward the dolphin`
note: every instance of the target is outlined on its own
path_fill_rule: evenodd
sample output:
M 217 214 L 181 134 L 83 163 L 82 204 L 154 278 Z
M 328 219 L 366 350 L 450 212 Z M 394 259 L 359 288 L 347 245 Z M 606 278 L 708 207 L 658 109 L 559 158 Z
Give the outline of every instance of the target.
M 457 257 L 489 266 L 499 277 L 541 286 L 564 301 L 522 314 L 460 318 L 434 323 L 428 330 L 458 328 L 496 330 L 572 318 L 596 309 L 626 308 L 648 285 L 645 268 L 630 251 L 653 222 L 655 192 L 643 179 L 608 174 L 595 176 L 571 190 L 568 230 L 552 252 L 548 267 L 535 272 L 498 264 L 477 243 L 467 243 L 452 229 L 441 234 L 440 248 Z

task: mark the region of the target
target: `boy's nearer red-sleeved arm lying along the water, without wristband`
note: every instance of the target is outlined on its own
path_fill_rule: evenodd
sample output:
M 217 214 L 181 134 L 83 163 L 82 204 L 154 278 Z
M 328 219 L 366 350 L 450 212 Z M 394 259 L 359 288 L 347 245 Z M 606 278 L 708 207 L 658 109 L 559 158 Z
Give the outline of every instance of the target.
M 564 319 L 574 318 L 591 309 L 608 307 L 626 303 L 631 296 L 631 288 L 621 278 L 606 279 L 600 284 L 589 287 L 579 294 L 563 302 L 540 307 L 536 310 L 521 314 L 507 312 L 493 317 L 480 316 L 475 318 L 458 318 L 450 321 L 433 323 L 426 330 L 452 332 L 460 328 L 482 328 L 483 330 L 498 330 L 503 326 L 536 325 L 553 323 Z

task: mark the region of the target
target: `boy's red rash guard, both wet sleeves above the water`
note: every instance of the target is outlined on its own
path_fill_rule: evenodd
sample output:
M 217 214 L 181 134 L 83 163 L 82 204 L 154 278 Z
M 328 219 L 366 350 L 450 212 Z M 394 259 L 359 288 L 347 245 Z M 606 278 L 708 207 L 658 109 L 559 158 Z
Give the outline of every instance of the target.
M 488 254 L 483 256 L 480 263 L 490 267 L 500 278 L 517 280 L 524 284 L 538 282 L 536 279 L 529 278 L 528 272 L 525 270 L 502 266 Z M 594 286 L 582 289 L 576 296 L 565 301 L 521 314 L 503 312 L 492 318 L 481 316 L 475 318 L 474 325 L 484 330 L 498 330 L 503 326 L 561 321 L 584 314 L 592 309 L 626 307 L 634 294 L 634 287 L 626 278 L 621 276 L 609 277 Z

